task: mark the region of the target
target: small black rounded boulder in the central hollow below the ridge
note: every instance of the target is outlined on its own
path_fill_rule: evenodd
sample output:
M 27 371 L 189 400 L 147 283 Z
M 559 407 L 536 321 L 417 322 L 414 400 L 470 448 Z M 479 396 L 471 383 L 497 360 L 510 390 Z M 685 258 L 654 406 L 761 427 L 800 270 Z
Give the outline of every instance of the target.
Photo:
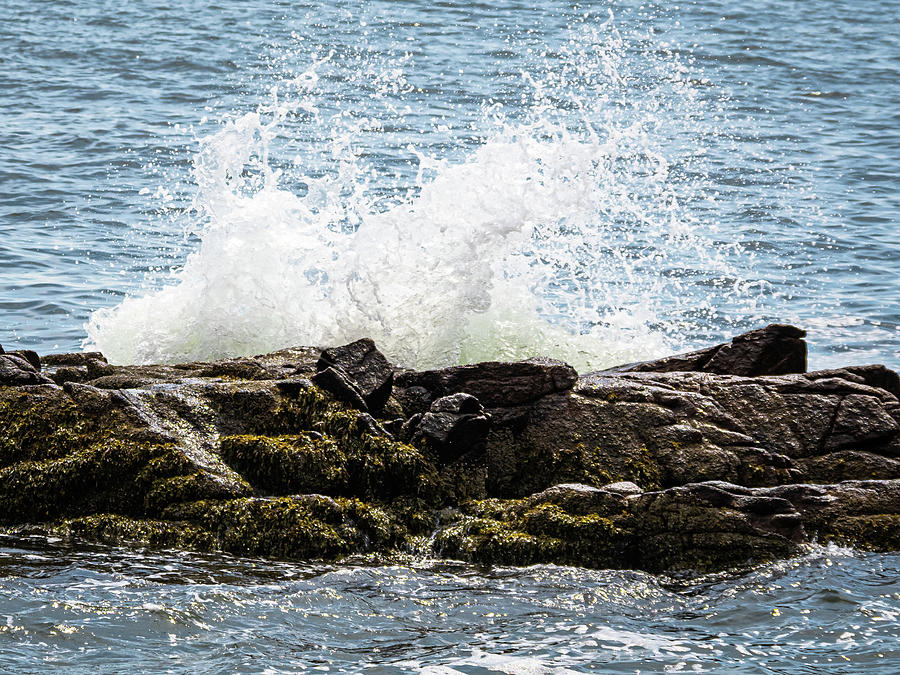
M 490 429 L 490 416 L 469 394 L 452 394 L 431 404 L 412 433 L 412 442 L 424 442 L 448 464 L 464 454 L 479 452 Z

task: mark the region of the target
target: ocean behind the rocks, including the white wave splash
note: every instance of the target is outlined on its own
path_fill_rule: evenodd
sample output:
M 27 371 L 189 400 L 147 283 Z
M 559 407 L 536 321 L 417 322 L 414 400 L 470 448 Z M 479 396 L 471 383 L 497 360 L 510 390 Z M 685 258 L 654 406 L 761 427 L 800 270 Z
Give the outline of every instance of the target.
M 897 18 L 6 0 L 0 343 L 586 370 L 790 321 L 896 367 Z

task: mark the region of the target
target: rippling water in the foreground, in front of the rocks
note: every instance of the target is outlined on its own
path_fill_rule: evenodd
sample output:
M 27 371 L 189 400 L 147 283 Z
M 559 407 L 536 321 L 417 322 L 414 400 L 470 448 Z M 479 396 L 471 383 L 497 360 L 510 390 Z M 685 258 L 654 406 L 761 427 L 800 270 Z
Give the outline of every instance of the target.
M 742 575 L 293 565 L 0 541 L 7 672 L 896 673 L 900 556 Z M 0 618 L 2 618 L 0 616 Z

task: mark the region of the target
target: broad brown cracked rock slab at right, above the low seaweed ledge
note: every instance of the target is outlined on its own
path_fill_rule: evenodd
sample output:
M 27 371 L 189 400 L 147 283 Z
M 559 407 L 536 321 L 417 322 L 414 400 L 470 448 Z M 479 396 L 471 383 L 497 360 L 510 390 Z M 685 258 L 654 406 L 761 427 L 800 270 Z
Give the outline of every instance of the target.
M 567 482 L 656 489 L 894 478 L 898 420 L 897 397 L 852 370 L 594 373 L 535 402 L 519 428 L 492 429 L 487 484 L 509 498 Z

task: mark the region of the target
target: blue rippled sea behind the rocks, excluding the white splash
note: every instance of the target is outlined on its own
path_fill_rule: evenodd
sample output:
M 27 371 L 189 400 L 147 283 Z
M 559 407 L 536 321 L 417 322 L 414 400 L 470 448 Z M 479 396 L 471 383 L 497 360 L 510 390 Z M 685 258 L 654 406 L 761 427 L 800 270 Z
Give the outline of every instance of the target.
M 698 227 L 715 224 L 711 244 L 742 246 L 742 278 L 718 281 L 750 284 L 744 293 L 757 296 L 751 309 L 738 308 L 716 281 L 700 280 L 708 288 L 698 293 L 721 312 L 699 318 L 690 303 L 661 299 L 671 311 L 656 320 L 672 346 L 793 321 L 810 330 L 813 367 L 896 366 L 898 9 L 895 0 L 8 0 L 0 8 L 0 342 L 77 349 L 92 311 L 165 283 L 197 246 L 185 210 L 198 139 L 316 59 L 330 54 L 336 64 L 317 85 L 318 120 L 390 120 L 354 140 L 377 174 L 370 188 L 390 200 L 413 183 L 411 144 L 464 159 L 490 133 L 487 102 L 502 103 L 507 118 L 524 116 L 522 73 L 552 70 L 573 26 L 612 16 L 632 36 L 620 67 L 635 99 L 641 63 L 658 52 L 674 52 L 694 78 L 702 119 L 686 116 L 681 137 L 678 123 L 662 125 L 660 145 L 702 148 L 701 194 L 688 215 Z M 398 64 L 399 93 L 376 96 L 367 69 L 385 80 Z M 329 170 L 323 147 L 333 127 L 299 122 L 290 133 L 274 165 L 298 156 L 307 173 Z M 283 183 L 302 194 L 290 172 Z

